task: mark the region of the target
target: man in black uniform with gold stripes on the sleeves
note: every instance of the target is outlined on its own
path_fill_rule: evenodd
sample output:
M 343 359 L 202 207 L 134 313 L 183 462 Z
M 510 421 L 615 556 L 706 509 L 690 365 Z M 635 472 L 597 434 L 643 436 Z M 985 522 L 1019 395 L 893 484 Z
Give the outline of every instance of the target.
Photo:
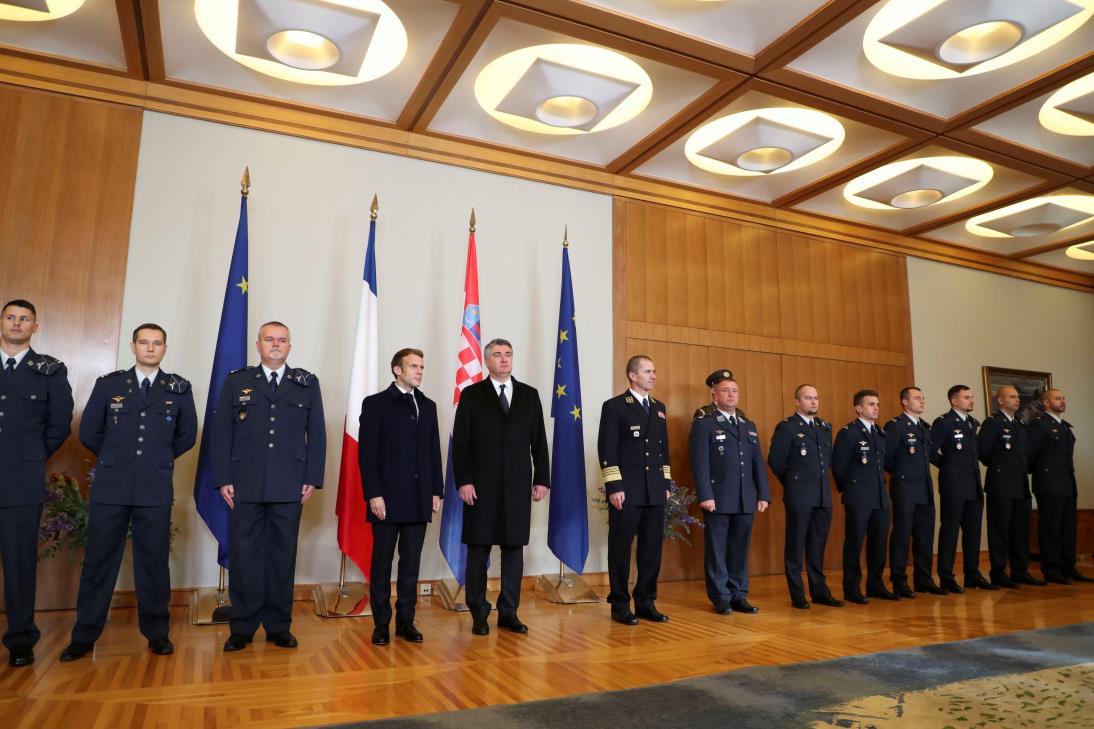
M 637 625 L 638 618 L 664 623 L 656 608 L 665 500 L 672 484 L 668 417 L 665 404 L 650 396 L 657 379 L 653 360 L 627 361 L 630 387 L 604 402 L 596 452 L 608 499 L 608 582 L 612 620 Z M 638 578 L 631 612 L 630 547 L 638 537 Z

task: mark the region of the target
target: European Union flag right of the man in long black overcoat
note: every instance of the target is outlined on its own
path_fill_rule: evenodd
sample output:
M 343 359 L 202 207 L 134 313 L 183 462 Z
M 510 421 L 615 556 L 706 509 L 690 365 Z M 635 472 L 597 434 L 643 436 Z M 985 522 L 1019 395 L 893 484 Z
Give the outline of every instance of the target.
M 558 306 L 550 416 L 555 418 L 555 447 L 551 449 L 547 546 L 562 564 L 580 575 L 589 557 L 589 499 L 581 425 L 581 375 L 578 372 L 578 320 L 573 311 L 569 247 L 562 248 L 562 293 Z

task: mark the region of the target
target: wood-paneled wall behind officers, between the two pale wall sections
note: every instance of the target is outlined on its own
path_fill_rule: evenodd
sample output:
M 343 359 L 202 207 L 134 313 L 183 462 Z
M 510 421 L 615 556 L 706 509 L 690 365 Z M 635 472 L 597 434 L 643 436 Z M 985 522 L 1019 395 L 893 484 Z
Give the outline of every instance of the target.
M 912 382 L 904 256 L 622 198 L 614 215 L 616 390 L 628 357 L 653 359 L 677 482 L 691 486 L 691 414 L 710 401 L 703 380 L 719 368 L 733 370 L 765 455 L 803 382 L 816 385 L 821 416 L 836 428 L 854 418 L 851 395 L 862 387 L 881 393 L 883 421 L 899 413 L 897 393 Z M 757 575 L 782 571 L 782 489 L 769 478 L 772 508 L 753 532 Z M 838 495 L 836 505 L 831 567 L 842 545 Z M 663 579 L 702 577 L 701 533 L 691 542 L 665 547 Z

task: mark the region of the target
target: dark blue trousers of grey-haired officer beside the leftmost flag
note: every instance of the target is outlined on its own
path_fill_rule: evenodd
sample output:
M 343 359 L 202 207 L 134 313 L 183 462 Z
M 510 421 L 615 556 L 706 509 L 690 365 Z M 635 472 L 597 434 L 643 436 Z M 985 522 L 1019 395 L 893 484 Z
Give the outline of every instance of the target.
M 232 633 L 283 633 L 292 624 L 300 501 L 236 501 L 228 512 L 229 597 Z

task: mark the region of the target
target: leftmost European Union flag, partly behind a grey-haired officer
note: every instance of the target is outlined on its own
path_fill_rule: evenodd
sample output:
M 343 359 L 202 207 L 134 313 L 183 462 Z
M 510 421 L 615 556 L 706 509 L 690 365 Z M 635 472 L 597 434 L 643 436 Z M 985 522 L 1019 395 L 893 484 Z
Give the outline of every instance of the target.
M 220 310 L 217 351 L 209 377 L 209 400 L 206 402 L 205 425 L 201 428 L 201 450 L 198 473 L 194 478 L 194 502 L 213 539 L 217 540 L 217 562 L 228 567 L 228 505 L 212 483 L 210 462 L 213 412 L 220 402 L 220 391 L 228 373 L 247 366 L 247 196 L 240 200 L 240 224 L 235 229 L 232 265 L 228 269 L 224 304 Z

